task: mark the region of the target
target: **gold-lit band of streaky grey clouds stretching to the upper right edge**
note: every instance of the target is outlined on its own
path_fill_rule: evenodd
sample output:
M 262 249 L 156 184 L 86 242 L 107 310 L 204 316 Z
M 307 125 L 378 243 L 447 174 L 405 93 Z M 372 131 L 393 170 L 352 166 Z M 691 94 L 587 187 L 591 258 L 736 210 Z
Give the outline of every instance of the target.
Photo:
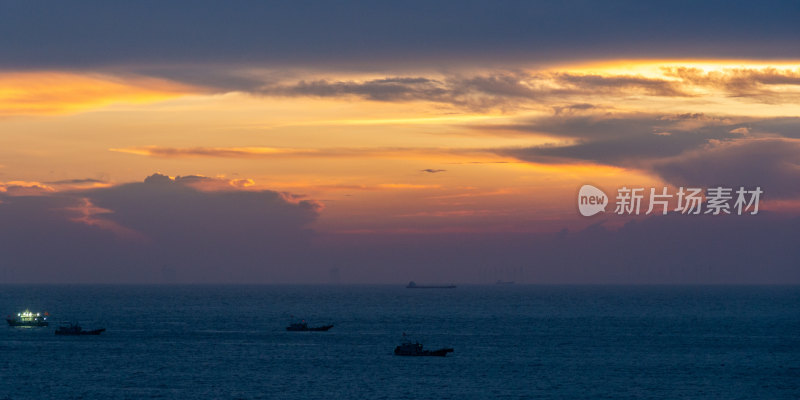
M 382 102 L 429 101 L 473 110 L 539 105 L 552 107 L 556 114 L 596 108 L 585 102 L 587 98 L 604 99 L 612 103 L 614 100 L 609 97 L 690 98 L 696 96 L 698 90 L 721 91 L 724 96 L 764 104 L 800 100 L 800 72 L 793 70 L 732 68 L 703 72 L 691 68 L 665 67 L 662 72 L 663 77 L 653 78 L 641 75 L 500 70 L 474 75 L 451 73 L 436 78 L 388 76 L 371 80 L 313 81 L 293 81 L 291 78 L 269 75 L 264 78 L 263 84 L 250 82 L 254 85 L 249 88 L 223 86 L 215 89 L 243 90 L 266 96 L 360 98 Z M 172 78 L 180 79 L 180 74 L 174 74 Z M 218 83 L 216 79 L 208 81 L 212 86 Z

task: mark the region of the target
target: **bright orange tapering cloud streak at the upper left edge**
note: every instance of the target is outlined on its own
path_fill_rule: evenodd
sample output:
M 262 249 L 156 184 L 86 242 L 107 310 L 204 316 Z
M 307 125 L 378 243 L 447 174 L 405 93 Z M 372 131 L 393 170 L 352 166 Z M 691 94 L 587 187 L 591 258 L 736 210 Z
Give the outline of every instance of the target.
M 197 89 L 163 79 L 67 72 L 0 73 L 0 117 L 69 114 L 115 103 L 166 100 Z

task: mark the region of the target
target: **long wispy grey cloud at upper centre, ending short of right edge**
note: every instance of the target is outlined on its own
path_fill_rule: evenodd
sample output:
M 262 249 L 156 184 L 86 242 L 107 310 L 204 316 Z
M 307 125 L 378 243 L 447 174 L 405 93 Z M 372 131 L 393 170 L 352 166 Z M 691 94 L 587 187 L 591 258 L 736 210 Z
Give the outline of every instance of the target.
M 249 91 L 268 96 L 357 97 L 384 102 L 429 101 L 473 110 L 513 109 L 595 95 L 687 96 L 680 90 L 680 82 L 658 78 L 513 71 L 472 76 L 450 74 L 441 79 L 395 76 L 366 81 L 301 80 L 266 84 Z M 587 106 L 575 104 L 560 109 L 576 111 L 591 108 Z

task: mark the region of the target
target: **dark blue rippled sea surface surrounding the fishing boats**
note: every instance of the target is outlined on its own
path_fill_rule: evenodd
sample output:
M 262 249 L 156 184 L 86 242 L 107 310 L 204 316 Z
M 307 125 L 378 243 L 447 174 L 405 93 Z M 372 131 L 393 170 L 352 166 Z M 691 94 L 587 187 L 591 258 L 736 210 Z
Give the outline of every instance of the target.
M 26 308 L 0 399 L 800 398 L 796 286 L 0 286 Z

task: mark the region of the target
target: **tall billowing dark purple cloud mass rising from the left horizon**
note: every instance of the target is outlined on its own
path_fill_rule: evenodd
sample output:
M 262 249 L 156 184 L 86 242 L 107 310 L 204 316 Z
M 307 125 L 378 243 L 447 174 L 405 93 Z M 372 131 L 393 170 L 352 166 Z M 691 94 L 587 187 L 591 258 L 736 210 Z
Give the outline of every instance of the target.
M 183 282 L 297 279 L 319 204 L 220 179 L 155 174 L 65 193 L 0 193 L 5 281 Z M 216 190 L 208 190 L 213 188 Z

